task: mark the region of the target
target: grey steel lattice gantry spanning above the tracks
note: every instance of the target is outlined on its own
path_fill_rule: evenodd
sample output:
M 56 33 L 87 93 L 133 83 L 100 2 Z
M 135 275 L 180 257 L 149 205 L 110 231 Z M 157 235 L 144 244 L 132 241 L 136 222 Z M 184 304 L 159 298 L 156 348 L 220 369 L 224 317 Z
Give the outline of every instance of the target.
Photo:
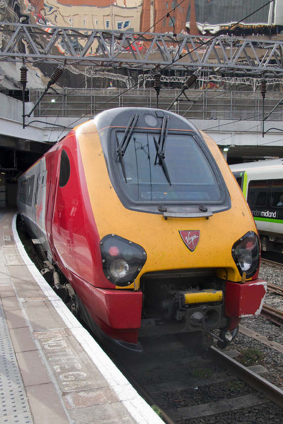
M 278 36 L 277 38 L 279 38 Z M 0 62 L 283 75 L 282 40 L 0 23 Z M 282 37 L 283 39 L 283 37 Z

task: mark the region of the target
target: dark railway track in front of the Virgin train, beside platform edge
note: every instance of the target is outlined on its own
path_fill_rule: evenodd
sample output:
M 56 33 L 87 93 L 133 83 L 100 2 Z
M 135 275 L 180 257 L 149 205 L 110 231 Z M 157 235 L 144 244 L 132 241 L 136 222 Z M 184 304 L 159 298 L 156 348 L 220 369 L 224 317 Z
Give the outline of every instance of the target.
M 264 371 L 247 368 L 214 347 L 204 354 L 162 338 L 123 363 L 128 380 L 149 404 L 157 405 L 167 424 L 239 424 L 245 422 L 239 414 L 244 419 L 263 409 L 281 422 L 283 391 L 253 369 Z

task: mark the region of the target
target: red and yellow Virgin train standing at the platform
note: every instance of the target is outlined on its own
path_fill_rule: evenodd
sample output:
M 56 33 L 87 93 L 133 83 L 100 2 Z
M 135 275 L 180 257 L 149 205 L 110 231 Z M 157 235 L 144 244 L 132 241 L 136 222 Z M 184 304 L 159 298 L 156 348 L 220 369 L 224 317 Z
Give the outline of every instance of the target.
M 225 347 L 260 313 L 249 207 L 215 142 L 174 113 L 120 108 L 77 126 L 20 177 L 18 209 L 100 337 L 134 347 L 187 332 Z

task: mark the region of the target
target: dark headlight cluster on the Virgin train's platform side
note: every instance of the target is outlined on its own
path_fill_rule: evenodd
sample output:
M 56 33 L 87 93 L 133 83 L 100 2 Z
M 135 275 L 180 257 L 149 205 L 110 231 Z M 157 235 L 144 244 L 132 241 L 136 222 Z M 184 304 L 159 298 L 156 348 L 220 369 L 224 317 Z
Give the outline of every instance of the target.
M 133 283 L 147 260 L 143 247 L 115 234 L 103 237 L 100 250 L 103 272 L 116 286 Z

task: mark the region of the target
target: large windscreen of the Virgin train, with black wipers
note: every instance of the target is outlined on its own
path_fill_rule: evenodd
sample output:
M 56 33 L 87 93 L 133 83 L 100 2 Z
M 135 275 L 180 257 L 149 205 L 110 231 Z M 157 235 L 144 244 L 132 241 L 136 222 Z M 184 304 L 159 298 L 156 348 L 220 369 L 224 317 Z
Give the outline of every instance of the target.
M 123 136 L 116 132 L 115 146 Z M 159 134 L 133 131 L 124 146 L 115 150 L 115 168 L 132 202 L 220 201 L 215 172 L 192 135 L 169 132 L 163 143 Z

